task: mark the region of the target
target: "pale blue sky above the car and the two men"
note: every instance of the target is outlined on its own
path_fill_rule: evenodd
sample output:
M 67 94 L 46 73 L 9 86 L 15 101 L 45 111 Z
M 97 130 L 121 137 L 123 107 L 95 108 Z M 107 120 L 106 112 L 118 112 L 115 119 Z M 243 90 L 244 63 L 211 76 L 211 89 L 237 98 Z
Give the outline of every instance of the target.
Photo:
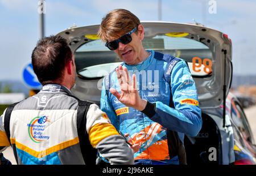
M 203 23 L 227 33 L 233 44 L 234 74 L 256 75 L 256 1 L 216 0 L 217 13 L 209 14 L 209 0 L 162 0 L 162 20 Z M 39 39 L 38 0 L 0 0 L 0 80 L 22 80 Z M 141 20 L 158 20 L 157 0 L 46 0 L 46 36 L 75 23 L 98 24 L 114 8 L 126 8 Z

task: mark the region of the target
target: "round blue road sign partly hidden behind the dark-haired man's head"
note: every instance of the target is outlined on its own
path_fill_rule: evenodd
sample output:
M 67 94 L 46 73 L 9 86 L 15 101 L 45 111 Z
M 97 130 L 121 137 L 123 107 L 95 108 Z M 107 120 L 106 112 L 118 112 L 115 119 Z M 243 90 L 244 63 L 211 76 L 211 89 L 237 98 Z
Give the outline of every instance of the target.
M 41 87 L 41 84 L 38 81 L 38 77 L 35 75 L 35 72 L 32 67 L 32 63 L 28 65 L 23 70 L 23 80 L 24 83 L 30 88 L 38 89 Z

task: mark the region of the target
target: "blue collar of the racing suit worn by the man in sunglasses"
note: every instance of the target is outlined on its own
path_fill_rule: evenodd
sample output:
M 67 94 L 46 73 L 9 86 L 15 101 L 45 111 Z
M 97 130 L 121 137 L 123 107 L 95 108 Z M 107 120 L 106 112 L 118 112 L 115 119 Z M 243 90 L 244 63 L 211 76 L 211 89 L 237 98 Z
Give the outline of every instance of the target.
M 123 65 L 124 67 L 126 67 L 128 70 L 133 70 L 133 71 L 141 71 L 141 70 L 146 70 L 146 68 L 148 66 L 150 66 L 154 55 L 155 55 L 155 51 L 154 50 L 147 50 L 150 53 L 150 56 L 148 58 L 146 58 L 142 63 L 138 63 L 136 65 L 127 65 L 126 63 Z

